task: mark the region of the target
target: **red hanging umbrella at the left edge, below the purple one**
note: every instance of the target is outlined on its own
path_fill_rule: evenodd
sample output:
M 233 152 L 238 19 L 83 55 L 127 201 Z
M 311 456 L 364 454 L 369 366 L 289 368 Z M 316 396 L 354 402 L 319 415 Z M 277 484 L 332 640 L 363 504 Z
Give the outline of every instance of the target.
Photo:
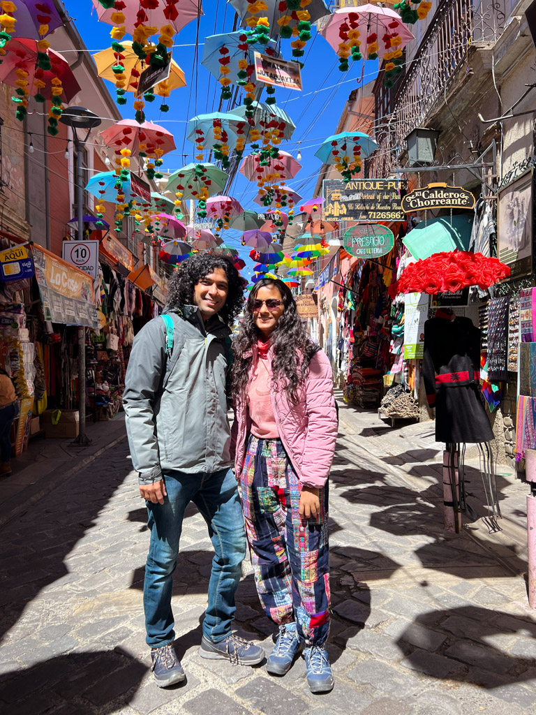
M 44 51 L 50 60 L 50 69 L 39 67 L 38 53 L 40 54 L 41 50 L 37 46 L 36 40 L 14 37 L 6 43 L 4 49 L 8 53 L 0 64 L 0 82 L 2 84 L 19 87 L 17 84 L 21 81 L 19 73 L 24 71 L 27 73 L 24 81 L 28 82 L 25 87 L 31 97 L 39 93 L 44 99 L 51 99 L 52 89 L 61 87 L 63 92 L 59 96 L 64 102 L 71 102 L 71 99 L 80 92 L 80 85 L 76 82 L 69 62 L 53 49 Z M 59 85 L 56 84 L 58 79 L 61 82 Z M 54 84 L 52 84 L 53 80 Z M 44 87 L 39 87 L 40 83 L 44 83 Z

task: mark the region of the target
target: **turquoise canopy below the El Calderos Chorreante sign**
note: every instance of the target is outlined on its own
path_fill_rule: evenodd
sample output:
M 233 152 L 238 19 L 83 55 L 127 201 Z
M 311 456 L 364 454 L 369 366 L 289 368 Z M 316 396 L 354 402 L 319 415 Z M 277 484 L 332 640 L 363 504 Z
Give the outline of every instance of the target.
M 402 240 L 415 258 L 429 258 L 442 251 L 467 251 L 471 238 L 473 217 L 460 214 L 421 221 Z

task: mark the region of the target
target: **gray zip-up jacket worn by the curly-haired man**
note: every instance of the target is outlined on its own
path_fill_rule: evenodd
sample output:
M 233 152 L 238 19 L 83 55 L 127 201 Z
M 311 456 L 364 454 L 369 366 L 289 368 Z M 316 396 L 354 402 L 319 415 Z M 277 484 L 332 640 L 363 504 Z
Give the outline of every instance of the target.
M 156 317 L 134 338 L 126 370 L 126 432 L 140 483 L 174 470 L 213 473 L 231 465 L 226 395 L 231 330 L 217 316 L 204 323 L 194 305 L 169 315 L 171 357 L 164 320 Z

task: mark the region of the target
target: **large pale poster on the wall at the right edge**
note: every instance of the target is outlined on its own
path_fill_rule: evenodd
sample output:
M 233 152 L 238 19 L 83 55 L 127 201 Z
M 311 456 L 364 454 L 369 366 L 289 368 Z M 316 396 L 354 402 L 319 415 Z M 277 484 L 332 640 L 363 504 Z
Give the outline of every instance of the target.
M 510 277 L 532 272 L 532 169 L 499 193 L 497 252 Z

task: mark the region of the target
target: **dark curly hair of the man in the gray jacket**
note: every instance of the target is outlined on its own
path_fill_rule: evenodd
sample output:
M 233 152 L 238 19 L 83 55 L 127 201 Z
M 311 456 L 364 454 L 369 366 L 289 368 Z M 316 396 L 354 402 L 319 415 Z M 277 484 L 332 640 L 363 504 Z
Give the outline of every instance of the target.
M 244 280 L 227 256 L 212 252 L 196 253 L 179 264 L 169 280 L 167 310 L 179 310 L 194 305 L 194 286 L 215 268 L 222 268 L 229 283 L 229 293 L 218 315 L 225 325 L 232 326 L 244 306 Z

